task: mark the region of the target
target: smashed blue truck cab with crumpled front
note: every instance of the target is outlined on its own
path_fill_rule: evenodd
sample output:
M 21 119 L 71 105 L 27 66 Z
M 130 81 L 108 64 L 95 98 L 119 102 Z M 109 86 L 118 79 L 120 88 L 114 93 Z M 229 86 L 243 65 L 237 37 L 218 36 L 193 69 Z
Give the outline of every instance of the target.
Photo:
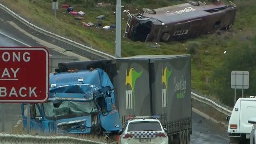
M 30 128 L 44 133 L 118 133 L 122 125 L 113 89 L 100 68 L 51 73 L 48 101 L 29 104 Z M 21 105 L 24 129 L 27 106 Z

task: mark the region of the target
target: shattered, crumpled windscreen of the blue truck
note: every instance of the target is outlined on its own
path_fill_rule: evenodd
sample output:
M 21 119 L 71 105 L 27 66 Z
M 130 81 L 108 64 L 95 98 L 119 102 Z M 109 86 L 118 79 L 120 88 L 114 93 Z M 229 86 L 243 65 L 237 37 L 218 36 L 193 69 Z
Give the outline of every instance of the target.
M 74 118 L 77 116 L 89 115 L 97 111 L 94 101 L 72 102 L 72 101 L 53 101 L 43 104 L 45 116 L 47 118 Z

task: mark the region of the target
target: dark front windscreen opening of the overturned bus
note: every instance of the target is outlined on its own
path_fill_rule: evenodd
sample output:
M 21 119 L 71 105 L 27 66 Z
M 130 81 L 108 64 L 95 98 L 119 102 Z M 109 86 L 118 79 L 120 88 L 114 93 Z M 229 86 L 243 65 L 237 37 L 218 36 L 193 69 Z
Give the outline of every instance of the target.
M 132 40 L 145 42 L 148 34 L 151 31 L 152 22 L 146 20 L 139 20 L 132 30 Z

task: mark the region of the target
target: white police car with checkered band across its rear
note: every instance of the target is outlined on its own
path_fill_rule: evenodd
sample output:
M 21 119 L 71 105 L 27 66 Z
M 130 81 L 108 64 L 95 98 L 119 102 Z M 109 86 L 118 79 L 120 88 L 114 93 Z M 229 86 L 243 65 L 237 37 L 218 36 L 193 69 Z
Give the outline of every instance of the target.
M 159 116 L 126 117 L 127 122 L 119 144 L 168 144 L 167 129 L 163 128 Z

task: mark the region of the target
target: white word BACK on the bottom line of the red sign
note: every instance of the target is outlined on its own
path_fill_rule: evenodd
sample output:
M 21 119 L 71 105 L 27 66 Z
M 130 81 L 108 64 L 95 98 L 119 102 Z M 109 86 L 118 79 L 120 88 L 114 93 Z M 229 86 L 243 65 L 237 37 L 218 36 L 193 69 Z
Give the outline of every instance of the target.
M 29 97 L 37 97 L 36 93 L 35 93 L 35 89 L 36 87 L 29 87 L 28 90 L 26 87 L 21 87 L 19 90 L 16 90 L 15 87 L 12 87 L 11 90 L 7 90 L 6 87 L 0 87 L 0 97 L 6 97 L 7 96 L 7 92 L 9 92 L 9 96 L 15 96 L 18 97 L 18 94 L 24 98 L 26 96 L 28 96 L 27 94 L 29 94 Z M 17 93 L 19 92 L 19 93 Z

